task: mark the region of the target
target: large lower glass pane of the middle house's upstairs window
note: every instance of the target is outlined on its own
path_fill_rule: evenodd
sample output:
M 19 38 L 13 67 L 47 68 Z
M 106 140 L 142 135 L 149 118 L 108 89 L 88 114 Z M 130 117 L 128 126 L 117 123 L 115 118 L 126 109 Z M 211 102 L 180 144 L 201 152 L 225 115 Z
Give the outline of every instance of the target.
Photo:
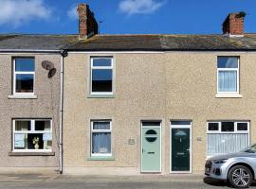
M 112 70 L 92 70 L 92 92 L 112 92 Z

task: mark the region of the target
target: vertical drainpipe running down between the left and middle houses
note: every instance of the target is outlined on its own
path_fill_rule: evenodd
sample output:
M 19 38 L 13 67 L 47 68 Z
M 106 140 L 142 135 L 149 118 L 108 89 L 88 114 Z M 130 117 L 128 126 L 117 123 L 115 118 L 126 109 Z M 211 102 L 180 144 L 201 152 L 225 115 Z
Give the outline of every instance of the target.
M 59 121 L 59 166 L 60 166 L 60 174 L 63 174 L 64 169 L 64 157 L 63 157 L 63 119 L 64 119 L 64 58 L 67 57 L 67 51 L 61 52 L 61 96 L 60 96 L 60 121 Z

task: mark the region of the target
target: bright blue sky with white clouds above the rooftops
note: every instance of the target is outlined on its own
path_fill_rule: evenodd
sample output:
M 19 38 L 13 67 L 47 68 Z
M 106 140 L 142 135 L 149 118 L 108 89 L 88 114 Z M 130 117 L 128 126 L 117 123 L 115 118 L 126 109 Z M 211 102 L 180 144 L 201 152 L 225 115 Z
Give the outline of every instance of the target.
M 0 0 L 0 33 L 77 34 L 87 3 L 101 34 L 216 34 L 229 12 L 246 11 L 256 33 L 256 0 Z

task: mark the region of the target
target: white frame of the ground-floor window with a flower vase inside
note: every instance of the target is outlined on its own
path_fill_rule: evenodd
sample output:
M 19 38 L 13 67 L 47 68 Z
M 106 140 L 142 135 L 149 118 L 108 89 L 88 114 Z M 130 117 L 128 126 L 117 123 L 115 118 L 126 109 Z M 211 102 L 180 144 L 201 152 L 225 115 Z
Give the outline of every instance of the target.
M 15 130 L 16 121 L 30 121 L 30 130 Z M 35 130 L 36 121 L 50 121 L 49 130 Z M 13 152 L 52 152 L 51 149 L 15 149 L 15 134 L 38 134 L 50 133 L 52 134 L 52 119 L 13 119 L 12 120 L 12 151 Z M 53 139 L 52 139 L 53 140 Z M 52 147 L 52 146 L 51 146 Z

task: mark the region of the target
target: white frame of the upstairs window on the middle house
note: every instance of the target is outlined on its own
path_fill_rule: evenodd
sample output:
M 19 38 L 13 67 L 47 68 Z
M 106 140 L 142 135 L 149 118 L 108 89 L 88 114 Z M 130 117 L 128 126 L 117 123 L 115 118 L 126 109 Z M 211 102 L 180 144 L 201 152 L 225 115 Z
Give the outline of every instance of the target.
M 97 59 L 110 59 L 111 65 L 110 66 L 94 66 L 93 61 Z M 90 94 L 92 95 L 98 95 L 98 94 L 106 94 L 106 95 L 112 95 L 114 94 L 114 59 L 113 57 L 90 57 L 91 61 L 91 67 L 90 67 Z M 92 91 L 92 71 L 93 70 L 112 70 L 112 92 L 93 92 Z

